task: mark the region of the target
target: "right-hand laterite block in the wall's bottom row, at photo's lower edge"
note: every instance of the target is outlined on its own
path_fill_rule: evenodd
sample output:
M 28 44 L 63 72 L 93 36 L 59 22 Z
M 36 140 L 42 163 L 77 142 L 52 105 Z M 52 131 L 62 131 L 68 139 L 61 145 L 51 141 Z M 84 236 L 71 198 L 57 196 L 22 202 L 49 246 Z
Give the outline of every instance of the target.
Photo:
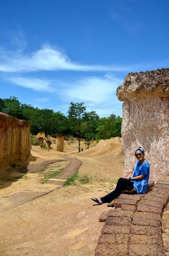
M 161 245 L 129 245 L 129 256 L 164 256 Z

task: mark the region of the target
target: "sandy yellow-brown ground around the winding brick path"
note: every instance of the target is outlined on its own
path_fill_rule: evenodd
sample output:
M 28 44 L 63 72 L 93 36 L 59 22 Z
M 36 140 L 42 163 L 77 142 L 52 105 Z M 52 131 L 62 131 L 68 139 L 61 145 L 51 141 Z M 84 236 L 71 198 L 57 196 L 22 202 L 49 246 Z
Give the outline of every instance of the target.
M 90 197 L 100 197 L 110 191 L 118 177 L 123 175 L 124 157 L 121 139 L 100 141 L 97 146 L 77 154 L 76 139 L 65 141 L 65 152 L 42 150 L 33 146 L 37 163 L 46 159 L 59 159 L 67 154 L 82 161 L 76 185 L 64 186 L 33 201 L 0 213 L 0 255 L 5 256 L 94 256 L 104 223 L 98 218 L 109 210 L 106 204 L 98 205 Z M 83 144 L 82 144 L 83 145 Z M 85 145 L 83 145 L 85 149 Z M 35 164 L 32 162 L 31 164 Z M 57 163 L 60 164 L 60 163 Z M 64 165 L 64 163 L 62 163 Z M 51 168 L 60 168 L 53 164 Z M 16 170 L 13 171 L 13 173 Z M 11 175 L 13 175 L 11 173 Z M 17 173 L 18 175 L 18 173 Z M 27 173 L 28 178 L 1 185 L 1 196 L 22 188 L 34 189 L 40 184 L 40 173 Z M 81 183 L 81 179 L 87 183 Z

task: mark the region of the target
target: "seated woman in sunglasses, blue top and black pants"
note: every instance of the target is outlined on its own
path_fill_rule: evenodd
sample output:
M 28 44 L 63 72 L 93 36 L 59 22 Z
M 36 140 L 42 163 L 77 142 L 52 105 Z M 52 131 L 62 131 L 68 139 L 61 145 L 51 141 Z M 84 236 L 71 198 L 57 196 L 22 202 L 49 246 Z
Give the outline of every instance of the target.
M 103 198 L 91 198 L 94 202 L 98 204 L 108 203 L 108 206 L 113 207 L 114 201 L 124 190 L 130 193 L 145 194 L 149 180 L 149 162 L 145 160 L 143 148 L 137 148 L 134 153 L 137 162 L 133 168 L 134 173 L 132 177 L 120 178 L 114 191 Z

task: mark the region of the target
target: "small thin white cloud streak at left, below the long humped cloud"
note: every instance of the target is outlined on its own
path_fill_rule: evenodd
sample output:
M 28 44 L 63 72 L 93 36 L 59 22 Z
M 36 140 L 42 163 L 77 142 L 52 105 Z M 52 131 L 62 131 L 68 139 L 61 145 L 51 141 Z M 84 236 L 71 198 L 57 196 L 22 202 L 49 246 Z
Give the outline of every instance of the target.
M 37 78 L 24 78 L 21 76 L 8 77 L 7 80 L 16 85 L 20 85 L 24 88 L 33 89 L 34 91 L 52 92 L 52 90 L 49 86 L 50 85 L 49 80 L 42 80 L 42 79 L 37 79 Z

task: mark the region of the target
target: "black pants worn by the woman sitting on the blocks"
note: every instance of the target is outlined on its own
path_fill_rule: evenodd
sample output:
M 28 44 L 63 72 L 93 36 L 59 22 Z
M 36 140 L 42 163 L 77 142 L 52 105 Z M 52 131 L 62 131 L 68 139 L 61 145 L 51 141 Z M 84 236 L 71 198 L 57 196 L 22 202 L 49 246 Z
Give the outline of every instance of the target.
M 116 189 L 110 192 L 108 195 L 105 195 L 101 198 L 101 201 L 104 203 L 110 203 L 112 200 L 116 199 L 123 190 L 133 190 L 134 183 L 131 180 L 120 178 L 116 184 Z

